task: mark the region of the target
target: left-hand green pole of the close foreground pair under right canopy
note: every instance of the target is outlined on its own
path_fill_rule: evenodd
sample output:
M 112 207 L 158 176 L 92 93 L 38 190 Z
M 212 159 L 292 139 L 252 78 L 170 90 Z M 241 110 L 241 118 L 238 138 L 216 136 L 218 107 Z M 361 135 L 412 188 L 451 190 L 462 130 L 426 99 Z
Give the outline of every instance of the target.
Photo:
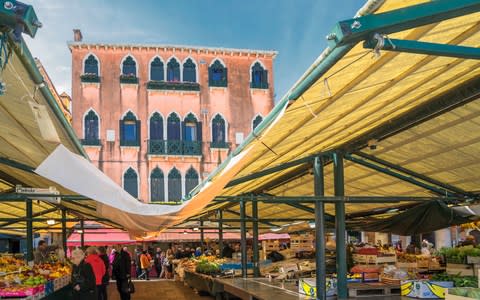
M 325 195 L 323 160 L 316 157 L 313 164 L 315 196 Z M 325 203 L 315 202 L 315 263 L 317 299 L 327 299 L 325 267 Z

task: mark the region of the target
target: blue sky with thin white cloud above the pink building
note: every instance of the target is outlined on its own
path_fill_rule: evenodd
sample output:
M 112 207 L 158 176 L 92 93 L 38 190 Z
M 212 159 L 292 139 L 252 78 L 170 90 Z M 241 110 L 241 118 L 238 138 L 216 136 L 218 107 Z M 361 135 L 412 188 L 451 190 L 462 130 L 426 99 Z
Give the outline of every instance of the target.
M 71 90 L 67 42 L 178 44 L 276 50 L 278 101 L 326 47 L 325 36 L 362 0 L 24 0 L 43 28 L 25 37 L 59 92 Z

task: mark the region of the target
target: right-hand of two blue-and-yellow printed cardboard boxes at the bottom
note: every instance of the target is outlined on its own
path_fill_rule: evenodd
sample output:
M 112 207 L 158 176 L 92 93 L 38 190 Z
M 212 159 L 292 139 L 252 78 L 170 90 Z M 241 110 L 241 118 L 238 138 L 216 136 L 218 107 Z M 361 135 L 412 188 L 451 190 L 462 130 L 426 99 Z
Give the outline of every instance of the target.
M 453 281 L 406 280 L 402 281 L 402 296 L 412 298 L 444 299 Z

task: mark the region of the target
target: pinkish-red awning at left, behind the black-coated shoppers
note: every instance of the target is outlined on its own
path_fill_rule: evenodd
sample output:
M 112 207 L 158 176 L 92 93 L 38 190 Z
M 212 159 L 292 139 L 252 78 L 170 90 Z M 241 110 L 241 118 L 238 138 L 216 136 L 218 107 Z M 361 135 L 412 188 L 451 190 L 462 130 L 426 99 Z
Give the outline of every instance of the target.
M 136 241 L 130 239 L 128 232 L 120 229 L 86 229 L 84 233 L 85 246 L 129 245 Z M 81 234 L 72 233 L 67 239 L 67 246 L 80 246 Z

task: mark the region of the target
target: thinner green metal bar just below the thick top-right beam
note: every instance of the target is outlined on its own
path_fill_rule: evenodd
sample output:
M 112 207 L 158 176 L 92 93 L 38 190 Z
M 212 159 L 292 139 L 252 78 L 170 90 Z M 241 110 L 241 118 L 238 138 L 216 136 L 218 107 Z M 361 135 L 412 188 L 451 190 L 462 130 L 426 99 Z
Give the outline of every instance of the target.
M 380 41 L 379 41 L 380 40 Z M 427 43 L 412 40 L 389 39 L 374 36 L 363 43 L 367 49 L 375 49 L 379 42 L 384 43 L 382 50 L 426 54 L 434 56 L 446 56 L 465 59 L 480 59 L 480 49 L 449 44 Z

